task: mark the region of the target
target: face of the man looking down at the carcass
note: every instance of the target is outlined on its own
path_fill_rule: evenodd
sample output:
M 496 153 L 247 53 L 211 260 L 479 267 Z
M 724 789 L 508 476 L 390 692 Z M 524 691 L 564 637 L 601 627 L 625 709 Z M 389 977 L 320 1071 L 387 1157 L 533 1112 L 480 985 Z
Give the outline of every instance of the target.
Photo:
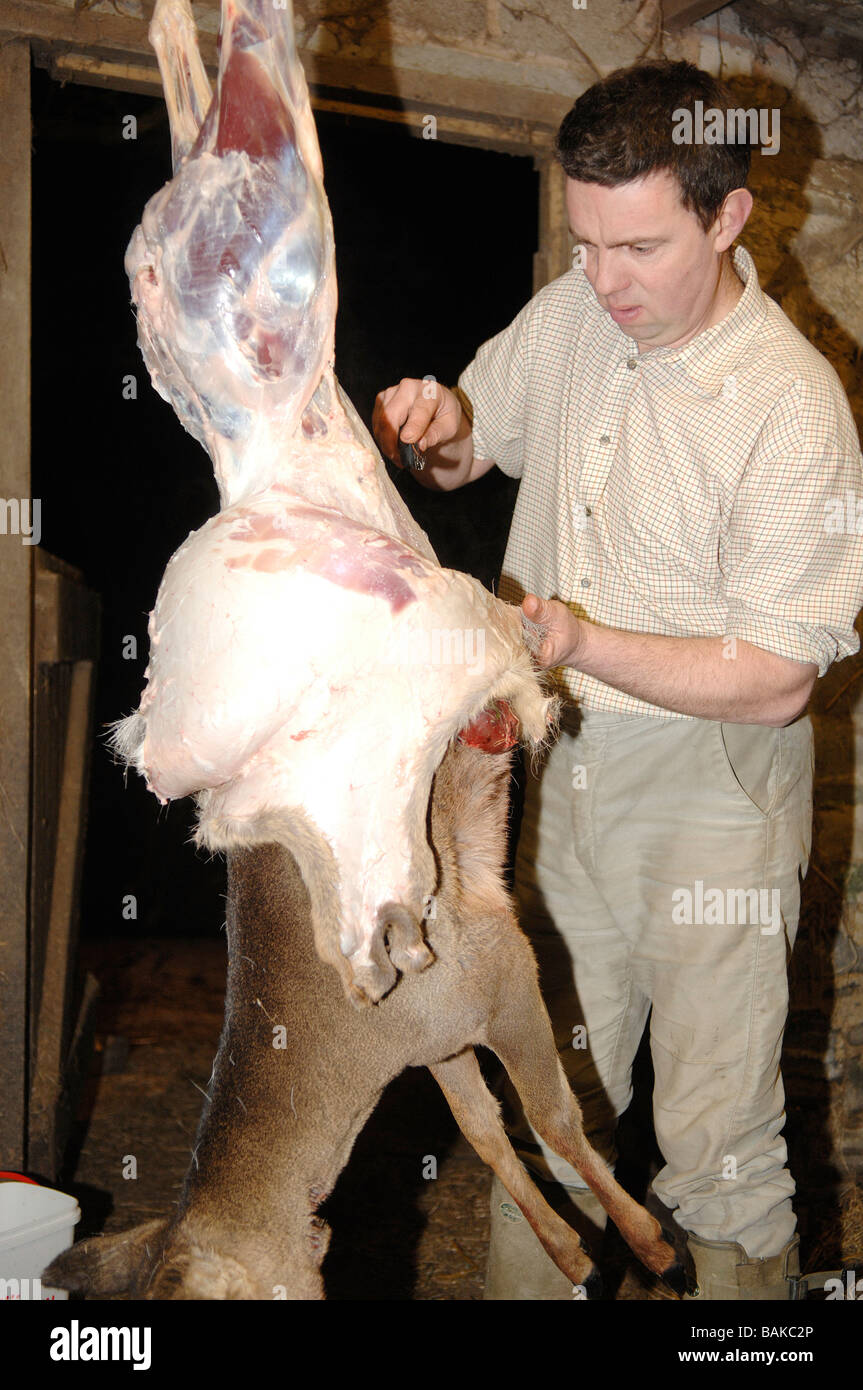
M 702 229 L 667 171 L 603 188 L 567 178 L 570 229 L 596 299 L 639 350 L 681 346 L 728 311 L 718 229 Z

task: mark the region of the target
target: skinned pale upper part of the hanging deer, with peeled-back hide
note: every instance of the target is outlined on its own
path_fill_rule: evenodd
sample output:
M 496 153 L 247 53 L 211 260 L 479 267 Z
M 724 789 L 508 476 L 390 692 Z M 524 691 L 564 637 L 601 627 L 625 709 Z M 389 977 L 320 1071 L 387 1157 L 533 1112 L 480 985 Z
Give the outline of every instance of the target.
M 160 801 L 196 796 L 200 844 L 285 844 L 320 955 L 377 1001 L 431 960 L 427 810 L 447 744 L 474 720 L 468 741 L 507 746 L 520 721 L 538 744 L 553 701 L 520 610 L 441 569 L 335 378 L 332 225 L 289 0 L 224 0 L 213 95 L 188 0 L 158 0 L 150 38 L 175 174 L 126 270 L 153 384 L 208 450 L 221 510 L 168 563 L 114 745 Z

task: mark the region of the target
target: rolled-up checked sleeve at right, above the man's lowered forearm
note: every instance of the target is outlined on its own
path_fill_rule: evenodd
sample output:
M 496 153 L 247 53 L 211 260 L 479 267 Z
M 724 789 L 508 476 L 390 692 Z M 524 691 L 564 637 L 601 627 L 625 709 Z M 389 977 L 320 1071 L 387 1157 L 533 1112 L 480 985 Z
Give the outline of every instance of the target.
M 819 676 L 852 656 L 863 606 L 860 455 L 756 455 L 734 502 L 721 569 L 727 635 L 814 662 Z

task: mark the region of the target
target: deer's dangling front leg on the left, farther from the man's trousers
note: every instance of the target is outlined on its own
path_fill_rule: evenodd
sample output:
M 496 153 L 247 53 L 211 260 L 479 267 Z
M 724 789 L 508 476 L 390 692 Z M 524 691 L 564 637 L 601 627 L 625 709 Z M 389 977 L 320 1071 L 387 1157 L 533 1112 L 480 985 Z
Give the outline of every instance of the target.
M 516 1158 L 500 1122 L 498 1102 L 482 1080 L 474 1049 L 429 1066 L 443 1091 L 459 1129 L 489 1165 L 521 1208 L 545 1250 L 574 1286 L 593 1297 L 600 1280 L 593 1261 L 581 1245 L 578 1234 L 553 1211 L 539 1194 Z

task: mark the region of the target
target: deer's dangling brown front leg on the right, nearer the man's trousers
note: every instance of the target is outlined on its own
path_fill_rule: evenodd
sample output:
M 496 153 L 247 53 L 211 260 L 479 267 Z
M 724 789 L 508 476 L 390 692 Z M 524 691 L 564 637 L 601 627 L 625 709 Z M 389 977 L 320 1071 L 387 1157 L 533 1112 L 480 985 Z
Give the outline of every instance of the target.
M 524 937 L 518 944 L 527 947 Z M 641 1262 L 682 1293 L 687 1277 L 670 1238 L 656 1218 L 623 1190 L 585 1138 L 581 1108 L 554 1047 L 532 960 L 529 970 L 518 970 L 518 990 L 509 990 L 489 1019 L 486 1042 L 503 1062 L 536 1133 L 584 1177 Z

